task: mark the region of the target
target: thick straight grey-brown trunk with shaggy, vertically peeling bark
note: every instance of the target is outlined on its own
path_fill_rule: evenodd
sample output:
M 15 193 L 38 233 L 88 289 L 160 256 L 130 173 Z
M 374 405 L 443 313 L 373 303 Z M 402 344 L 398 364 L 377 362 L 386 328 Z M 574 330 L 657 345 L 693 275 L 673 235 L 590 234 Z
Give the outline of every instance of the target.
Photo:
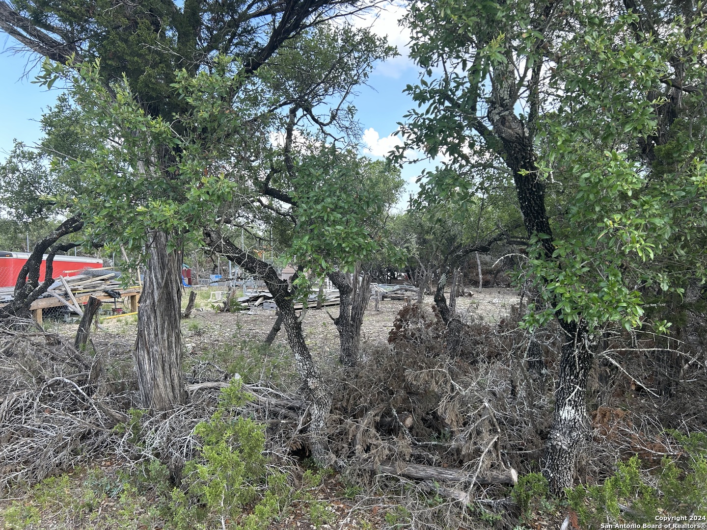
M 182 382 L 182 259 L 168 236 L 148 231 L 149 261 L 140 296 L 134 360 L 142 406 L 168 411 L 184 403 Z

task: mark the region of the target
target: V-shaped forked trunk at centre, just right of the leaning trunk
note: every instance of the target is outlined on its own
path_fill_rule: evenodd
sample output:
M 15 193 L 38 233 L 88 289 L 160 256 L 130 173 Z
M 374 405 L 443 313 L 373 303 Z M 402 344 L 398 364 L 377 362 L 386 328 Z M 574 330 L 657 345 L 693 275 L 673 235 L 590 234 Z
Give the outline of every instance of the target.
M 370 276 L 364 274 L 358 278 L 358 268 L 351 280 L 347 274 L 329 273 L 329 280 L 339 289 L 339 316 L 334 319 L 334 325 L 339 330 L 341 353 L 339 360 L 344 366 L 356 366 L 361 349 L 361 324 L 363 314 L 370 300 Z

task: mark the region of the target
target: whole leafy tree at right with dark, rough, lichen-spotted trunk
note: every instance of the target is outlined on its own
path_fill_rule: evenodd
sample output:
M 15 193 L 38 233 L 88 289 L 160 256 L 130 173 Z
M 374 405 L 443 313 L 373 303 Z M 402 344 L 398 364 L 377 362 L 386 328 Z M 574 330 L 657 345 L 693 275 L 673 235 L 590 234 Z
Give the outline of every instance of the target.
M 672 173 L 682 175 L 677 186 L 652 178 L 641 161 L 665 139 L 667 110 L 678 110 L 662 102 L 702 91 L 695 88 L 704 78 L 702 13 L 673 18 L 677 4 L 665 12 L 646 4 L 433 0 L 414 4 L 407 18 L 411 55 L 426 70 L 408 87 L 423 108 L 408 115 L 407 146 L 443 152 L 451 167 L 508 168 L 530 239 L 531 277 L 547 302 L 527 325 L 555 317 L 563 332 L 542 464 L 554 493 L 572 484 L 587 432 L 595 334 L 611 322 L 641 324 L 633 281 L 651 275 L 626 262 L 651 260 L 674 244 L 681 221 L 670 212 L 684 197 L 691 213 L 679 213 L 689 218 L 702 196 L 695 134 Z M 652 26 L 642 11 L 656 15 Z M 460 183 L 469 186 L 464 179 L 429 185 L 448 193 Z M 551 216 L 558 204 L 566 208 Z

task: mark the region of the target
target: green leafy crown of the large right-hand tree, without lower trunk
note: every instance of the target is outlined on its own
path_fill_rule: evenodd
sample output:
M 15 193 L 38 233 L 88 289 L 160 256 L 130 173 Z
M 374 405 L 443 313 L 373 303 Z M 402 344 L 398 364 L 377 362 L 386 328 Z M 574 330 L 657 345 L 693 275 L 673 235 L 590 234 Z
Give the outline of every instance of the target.
M 456 201 L 468 218 L 469 195 L 503 196 L 509 177 L 532 174 L 544 190 L 547 216 L 536 220 L 549 220 L 553 240 L 530 235 L 525 278 L 544 303 L 526 326 L 557 317 L 631 329 L 645 322 L 646 291 L 679 294 L 686 270 L 707 276 L 707 114 L 699 90 L 678 104 L 670 88 L 703 83 L 703 12 L 645 3 L 648 30 L 619 4 L 611 15 L 604 2 L 557 8 L 538 17 L 523 0 L 414 3 L 411 57 L 425 71 L 407 87 L 419 108 L 403 124 L 405 148 L 445 154 L 421 177 L 420 204 Z M 510 124 L 511 143 L 533 151 L 528 167 L 503 143 Z

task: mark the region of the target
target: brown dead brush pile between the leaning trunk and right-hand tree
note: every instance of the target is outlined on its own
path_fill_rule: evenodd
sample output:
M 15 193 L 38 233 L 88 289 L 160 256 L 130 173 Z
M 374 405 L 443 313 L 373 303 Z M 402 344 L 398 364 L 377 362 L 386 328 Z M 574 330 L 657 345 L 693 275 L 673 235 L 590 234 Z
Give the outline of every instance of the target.
M 370 469 L 389 462 L 455 469 L 469 485 L 530 471 L 552 408 L 525 369 L 526 335 L 510 319 L 467 322 L 460 351 L 449 355 L 436 308 L 404 307 L 390 349 L 341 375 L 333 400 L 337 454 Z M 554 334 L 536 338 L 551 343 Z

